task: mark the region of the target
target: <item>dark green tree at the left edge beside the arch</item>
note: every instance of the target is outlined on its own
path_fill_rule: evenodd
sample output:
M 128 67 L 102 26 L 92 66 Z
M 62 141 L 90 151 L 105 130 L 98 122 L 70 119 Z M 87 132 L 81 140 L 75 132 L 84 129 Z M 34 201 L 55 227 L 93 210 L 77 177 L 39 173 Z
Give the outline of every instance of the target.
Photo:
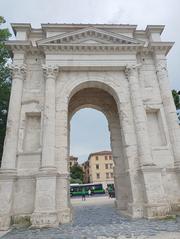
M 0 16 L 0 27 L 4 23 L 4 18 Z M 11 34 L 7 28 L 0 28 L 0 163 L 6 133 L 7 112 L 11 89 L 10 70 L 7 66 L 7 62 L 11 58 L 11 52 L 5 46 L 5 41 L 8 40 L 10 36 Z

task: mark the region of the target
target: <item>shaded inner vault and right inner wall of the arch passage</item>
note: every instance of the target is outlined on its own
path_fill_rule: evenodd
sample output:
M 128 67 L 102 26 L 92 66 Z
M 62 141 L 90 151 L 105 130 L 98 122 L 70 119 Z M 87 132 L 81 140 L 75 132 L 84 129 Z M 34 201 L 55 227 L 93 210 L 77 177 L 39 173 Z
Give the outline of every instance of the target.
M 126 174 L 127 162 L 124 155 L 120 118 L 117 108 L 117 98 L 114 98 L 114 91 L 105 84 L 101 87 L 98 82 L 88 85 L 82 83 L 71 92 L 68 104 L 68 157 L 70 156 L 70 121 L 81 109 L 93 108 L 102 112 L 108 122 L 110 132 L 110 148 L 114 162 L 113 177 L 116 207 L 120 210 L 127 210 L 128 203 L 132 200 L 129 175 Z M 109 92 L 110 91 L 110 92 Z M 116 97 L 116 96 L 115 96 Z M 107 186 L 107 185 L 106 185 Z

